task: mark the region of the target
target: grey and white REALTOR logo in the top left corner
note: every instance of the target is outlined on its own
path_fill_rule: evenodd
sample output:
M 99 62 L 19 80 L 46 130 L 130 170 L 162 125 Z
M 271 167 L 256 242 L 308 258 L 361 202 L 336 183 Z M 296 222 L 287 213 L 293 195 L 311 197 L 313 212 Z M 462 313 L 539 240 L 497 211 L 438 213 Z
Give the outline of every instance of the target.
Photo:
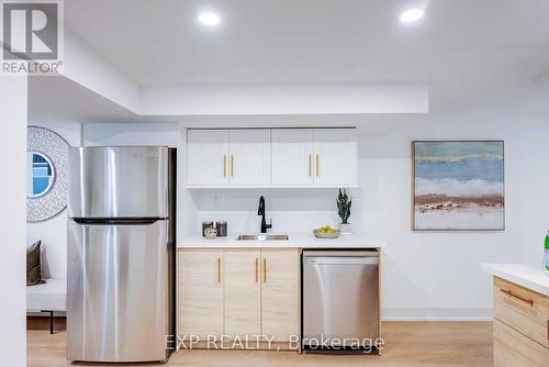
M 63 64 L 63 3 L 1 1 L 3 74 L 56 74 Z

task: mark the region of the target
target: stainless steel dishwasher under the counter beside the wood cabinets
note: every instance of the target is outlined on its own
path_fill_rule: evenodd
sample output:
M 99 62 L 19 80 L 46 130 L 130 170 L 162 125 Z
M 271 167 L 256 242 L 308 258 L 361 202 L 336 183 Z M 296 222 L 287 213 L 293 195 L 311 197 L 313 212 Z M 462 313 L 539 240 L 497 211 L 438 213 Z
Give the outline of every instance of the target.
M 302 320 L 304 351 L 357 349 L 355 340 L 374 342 L 380 333 L 379 253 L 304 251 Z

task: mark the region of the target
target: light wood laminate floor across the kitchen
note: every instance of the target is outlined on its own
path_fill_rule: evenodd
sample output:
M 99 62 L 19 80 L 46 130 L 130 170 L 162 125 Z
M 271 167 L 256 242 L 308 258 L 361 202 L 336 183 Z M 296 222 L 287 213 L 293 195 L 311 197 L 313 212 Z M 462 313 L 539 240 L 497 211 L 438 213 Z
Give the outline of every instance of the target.
M 492 366 L 491 322 L 383 322 L 382 331 L 386 345 L 381 356 L 184 351 L 175 354 L 166 366 Z M 47 331 L 27 331 L 26 335 L 27 366 L 70 365 L 65 360 L 65 332 L 49 335 Z

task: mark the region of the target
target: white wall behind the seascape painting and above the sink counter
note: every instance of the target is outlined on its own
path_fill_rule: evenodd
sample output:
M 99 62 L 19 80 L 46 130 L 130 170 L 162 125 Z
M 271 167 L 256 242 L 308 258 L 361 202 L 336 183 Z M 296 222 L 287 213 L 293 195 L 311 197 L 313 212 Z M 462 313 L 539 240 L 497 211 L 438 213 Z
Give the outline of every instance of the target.
M 384 319 L 491 318 L 491 279 L 483 263 L 540 266 L 549 229 L 549 113 L 475 112 L 363 116 L 359 180 L 350 221 L 355 231 L 386 240 Z M 411 141 L 504 140 L 505 232 L 411 230 Z M 258 232 L 258 198 L 266 196 L 274 232 L 336 224 L 336 190 L 190 191 L 202 220 L 226 220 L 229 232 Z

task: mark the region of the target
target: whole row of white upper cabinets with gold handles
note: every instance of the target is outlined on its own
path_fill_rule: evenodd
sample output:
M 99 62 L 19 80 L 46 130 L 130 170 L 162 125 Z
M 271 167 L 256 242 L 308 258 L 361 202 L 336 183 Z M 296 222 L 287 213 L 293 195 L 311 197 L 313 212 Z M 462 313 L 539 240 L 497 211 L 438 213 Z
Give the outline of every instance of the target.
M 208 187 L 352 187 L 355 129 L 188 131 L 188 185 Z

